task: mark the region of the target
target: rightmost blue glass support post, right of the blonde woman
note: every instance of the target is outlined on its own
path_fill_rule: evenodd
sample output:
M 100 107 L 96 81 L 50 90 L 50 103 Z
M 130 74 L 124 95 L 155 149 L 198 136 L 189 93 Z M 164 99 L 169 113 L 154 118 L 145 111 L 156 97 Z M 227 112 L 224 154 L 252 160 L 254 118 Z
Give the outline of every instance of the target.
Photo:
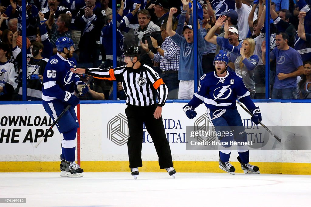
M 270 97 L 269 71 L 270 71 L 270 1 L 266 0 L 266 99 Z

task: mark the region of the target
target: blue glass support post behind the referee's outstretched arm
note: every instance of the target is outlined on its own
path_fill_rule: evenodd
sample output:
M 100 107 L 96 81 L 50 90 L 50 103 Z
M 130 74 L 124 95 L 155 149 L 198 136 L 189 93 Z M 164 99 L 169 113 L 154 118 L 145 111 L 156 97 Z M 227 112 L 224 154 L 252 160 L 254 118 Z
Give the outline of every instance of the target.
M 113 68 L 117 67 L 117 2 L 116 0 L 112 1 L 112 64 Z M 113 82 L 113 97 L 114 100 L 117 100 L 117 82 Z

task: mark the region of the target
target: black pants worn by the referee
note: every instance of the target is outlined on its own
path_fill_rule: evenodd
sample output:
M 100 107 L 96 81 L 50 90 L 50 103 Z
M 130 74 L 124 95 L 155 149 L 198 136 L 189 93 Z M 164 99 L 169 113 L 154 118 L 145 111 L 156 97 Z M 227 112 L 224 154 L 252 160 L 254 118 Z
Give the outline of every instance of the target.
M 156 110 L 156 104 L 151 106 L 133 106 L 128 105 L 125 114 L 128 118 L 128 129 L 130 137 L 128 138 L 128 157 L 130 168 L 142 167 L 142 140 L 143 123 L 150 134 L 156 152 L 159 157 L 160 169 L 173 166 L 171 149 L 167 141 L 162 117 L 155 119 L 153 113 Z

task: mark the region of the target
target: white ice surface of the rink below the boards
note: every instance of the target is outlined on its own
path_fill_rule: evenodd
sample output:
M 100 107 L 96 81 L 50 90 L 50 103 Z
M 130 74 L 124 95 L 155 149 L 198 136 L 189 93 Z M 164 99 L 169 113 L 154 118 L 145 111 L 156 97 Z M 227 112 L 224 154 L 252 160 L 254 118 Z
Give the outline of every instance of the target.
M 280 174 L 0 173 L 0 198 L 26 198 L 26 204 L 0 206 L 311 206 L 311 176 Z

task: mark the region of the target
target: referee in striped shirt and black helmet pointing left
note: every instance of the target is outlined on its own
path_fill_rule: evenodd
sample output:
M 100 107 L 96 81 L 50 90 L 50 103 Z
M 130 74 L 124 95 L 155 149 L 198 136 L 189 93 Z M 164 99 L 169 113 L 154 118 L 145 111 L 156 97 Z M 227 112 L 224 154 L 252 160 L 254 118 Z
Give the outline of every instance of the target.
M 134 179 L 139 174 L 138 168 L 142 167 L 144 123 L 156 147 L 160 169 L 166 169 L 169 175 L 174 177 L 176 171 L 173 168 L 171 150 L 161 116 L 168 89 L 156 71 L 140 63 L 141 53 L 138 47 L 128 48 L 123 55 L 126 65 L 115 69 L 77 68 L 75 70 L 72 68 L 71 71 L 79 74 L 86 73 L 98 79 L 122 81 L 128 105 L 125 114 L 130 132 L 128 138 L 129 167 Z

